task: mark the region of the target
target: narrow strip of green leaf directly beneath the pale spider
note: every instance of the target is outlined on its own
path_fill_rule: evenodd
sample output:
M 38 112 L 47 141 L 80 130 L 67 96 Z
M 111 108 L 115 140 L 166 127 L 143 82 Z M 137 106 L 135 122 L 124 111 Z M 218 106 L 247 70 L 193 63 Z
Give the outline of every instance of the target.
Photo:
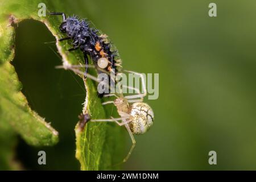
M 93 119 L 117 117 L 113 106 L 102 107 L 94 84 L 91 80 L 85 81 L 86 101 L 83 113 L 89 113 Z M 115 164 L 122 161 L 125 144 L 121 127 L 115 123 L 88 122 L 83 131 L 77 123 L 75 131 L 76 158 L 81 163 L 82 170 L 119 169 L 120 166 Z

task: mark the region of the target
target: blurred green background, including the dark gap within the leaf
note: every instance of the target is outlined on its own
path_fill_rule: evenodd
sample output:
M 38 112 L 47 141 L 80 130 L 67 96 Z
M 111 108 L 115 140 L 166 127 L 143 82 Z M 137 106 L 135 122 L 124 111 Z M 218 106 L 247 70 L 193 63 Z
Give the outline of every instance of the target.
M 217 4 L 216 18 L 208 16 L 210 2 Z M 154 126 L 136 137 L 123 169 L 256 169 L 255 1 L 63 3 L 70 7 L 65 13 L 92 20 L 109 35 L 125 69 L 159 73 L 159 98 L 147 101 Z M 19 24 L 13 64 L 23 93 L 59 131 L 60 142 L 32 148 L 20 139 L 17 158 L 27 169 L 79 169 L 73 129 L 84 87 L 79 77 L 54 68 L 61 58 L 55 43 L 45 43 L 52 41 L 44 24 Z M 47 152 L 46 166 L 37 164 L 39 150 Z M 215 166 L 208 164 L 211 150 Z

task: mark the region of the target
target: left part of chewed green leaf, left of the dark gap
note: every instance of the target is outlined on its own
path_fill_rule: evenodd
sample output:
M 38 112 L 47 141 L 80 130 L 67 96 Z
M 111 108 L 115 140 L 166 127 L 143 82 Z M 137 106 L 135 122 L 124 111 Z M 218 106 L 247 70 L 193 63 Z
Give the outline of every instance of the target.
M 0 2 L 0 169 L 20 169 L 14 161 L 16 135 L 32 146 L 52 146 L 58 133 L 28 105 L 22 84 L 11 65 L 14 58 L 15 26 L 35 18 L 38 2 Z

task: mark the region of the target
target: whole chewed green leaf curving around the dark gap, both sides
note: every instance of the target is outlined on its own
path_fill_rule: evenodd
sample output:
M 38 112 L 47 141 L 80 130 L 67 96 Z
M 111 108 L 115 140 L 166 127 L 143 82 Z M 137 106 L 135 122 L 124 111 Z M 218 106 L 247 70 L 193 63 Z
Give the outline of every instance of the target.
M 16 134 L 33 146 L 51 146 L 58 141 L 58 133 L 35 111 L 30 109 L 26 97 L 20 92 L 19 82 L 11 61 L 14 58 L 15 26 L 24 19 L 35 19 L 46 24 L 56 40 L 65 37 L 59 31 L 60 16 L 38 16 L 38 4 L 45 3 L 49 11 L 67 13 L 63 1 L 10 0 L 0 2 L 0 168 L 16 169 L 13 148 Z M 73 13 L 72 13 L 73 14 Z M 71 42 L 57 42 L 63 64 L 84 63 L 81 51 L 68 52 Z M 93 71 L 92 71 L 93 72 Z M 95 74 L 95 73 L 92 73 Z M 115 116 L 113 106 L 103 107 L 97 96 L 96 83 L 84 80 L 86 101 L 83 113 L 92 118 Z M 82 131 L 76 126 L 76 158 L 82 170 L 118 169 L 113 166 L 122 161 L 123 130 L 114 123 L 88 123 Z M 3 164 L 3 165 L 2 165 Z

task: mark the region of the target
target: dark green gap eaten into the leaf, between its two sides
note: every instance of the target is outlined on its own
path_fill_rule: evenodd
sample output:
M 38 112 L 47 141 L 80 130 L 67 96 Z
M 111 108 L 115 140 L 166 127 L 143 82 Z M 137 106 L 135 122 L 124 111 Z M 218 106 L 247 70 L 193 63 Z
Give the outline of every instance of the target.
M 12 64 L 23 84 L 22 93 L 32 110 L 59 131 L 59 143 L 52 147 L 32 147 L 19 140 L 18 159 L 27 169 L 79 169 L 74 128 L 85 98 L 84 84 L 73 73 L 55 69 L 61 65 L 55 41 L 47 27 L 35 20 L 24 20 L 16 29 Z M 46 151 L 47 165 L 38 164 L 40 150 Z

